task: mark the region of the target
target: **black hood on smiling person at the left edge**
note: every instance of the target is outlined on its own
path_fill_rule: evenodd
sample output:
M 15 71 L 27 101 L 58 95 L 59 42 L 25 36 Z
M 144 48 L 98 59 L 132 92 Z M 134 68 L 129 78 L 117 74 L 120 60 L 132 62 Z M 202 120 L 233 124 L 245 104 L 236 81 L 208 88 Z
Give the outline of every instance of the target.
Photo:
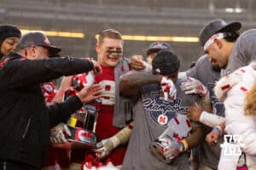
M 0 59 L 2 59 L 4 55 L 1 52 L 3 41 L 9 37 L 20 37 L 20 36 L 21 36 L 20 29 L 17 28 L 16 26 L 0 25 Z

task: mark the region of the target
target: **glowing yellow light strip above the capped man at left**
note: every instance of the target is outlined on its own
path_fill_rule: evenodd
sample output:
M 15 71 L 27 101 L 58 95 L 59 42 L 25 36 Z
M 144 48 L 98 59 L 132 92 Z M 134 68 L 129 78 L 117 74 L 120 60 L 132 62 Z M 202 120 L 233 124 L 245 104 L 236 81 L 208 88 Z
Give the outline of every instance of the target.
M 22 30 L 21 33 L 28 33 L 38 30 Z M 84 38 L 84 33 L 81 32 L 69 32 L 69 31 L 42 31 L 49 37 L 73 37 L 73 38 Z

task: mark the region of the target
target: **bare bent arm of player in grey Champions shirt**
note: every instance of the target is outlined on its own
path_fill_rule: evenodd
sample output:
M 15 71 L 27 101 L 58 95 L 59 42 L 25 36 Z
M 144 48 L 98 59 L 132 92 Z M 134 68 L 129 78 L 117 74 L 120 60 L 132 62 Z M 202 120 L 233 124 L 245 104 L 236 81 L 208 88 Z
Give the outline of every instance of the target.
M 140 88 L 151 83 L 160 83 L 162 76 L 144 73 L 128 74 L 120 78 L 120 94 L 130 97 L 139 94 Z

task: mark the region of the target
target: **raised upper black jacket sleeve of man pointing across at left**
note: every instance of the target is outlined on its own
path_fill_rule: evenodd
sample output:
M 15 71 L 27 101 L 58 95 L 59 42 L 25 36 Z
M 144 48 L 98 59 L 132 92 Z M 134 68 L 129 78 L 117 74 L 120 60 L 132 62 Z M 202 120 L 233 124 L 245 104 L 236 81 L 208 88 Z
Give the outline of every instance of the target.
M 9 74 L 9 87 L 18 88 L 49 82 L 61 76 L 91 71 L 93 63 L 79 58 L 13 59 L 4 65 Z

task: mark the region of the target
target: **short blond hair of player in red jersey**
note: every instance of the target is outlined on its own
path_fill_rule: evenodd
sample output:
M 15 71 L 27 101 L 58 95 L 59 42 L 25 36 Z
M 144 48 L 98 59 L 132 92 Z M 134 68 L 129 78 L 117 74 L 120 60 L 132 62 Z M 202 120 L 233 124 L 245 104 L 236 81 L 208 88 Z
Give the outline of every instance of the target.
M 119 31 L 115 30 L 115 29 L 112 29 L 112 28 L 107 29 L 107 30 L 103 30 L 99 33 L 99 36 L 97 38 L 97 44 L 99 46 L 101 46 L 104 38 L 106 38 L 106 37 L 121 40 L 122 44 L 124 44 L 121 33 Z

